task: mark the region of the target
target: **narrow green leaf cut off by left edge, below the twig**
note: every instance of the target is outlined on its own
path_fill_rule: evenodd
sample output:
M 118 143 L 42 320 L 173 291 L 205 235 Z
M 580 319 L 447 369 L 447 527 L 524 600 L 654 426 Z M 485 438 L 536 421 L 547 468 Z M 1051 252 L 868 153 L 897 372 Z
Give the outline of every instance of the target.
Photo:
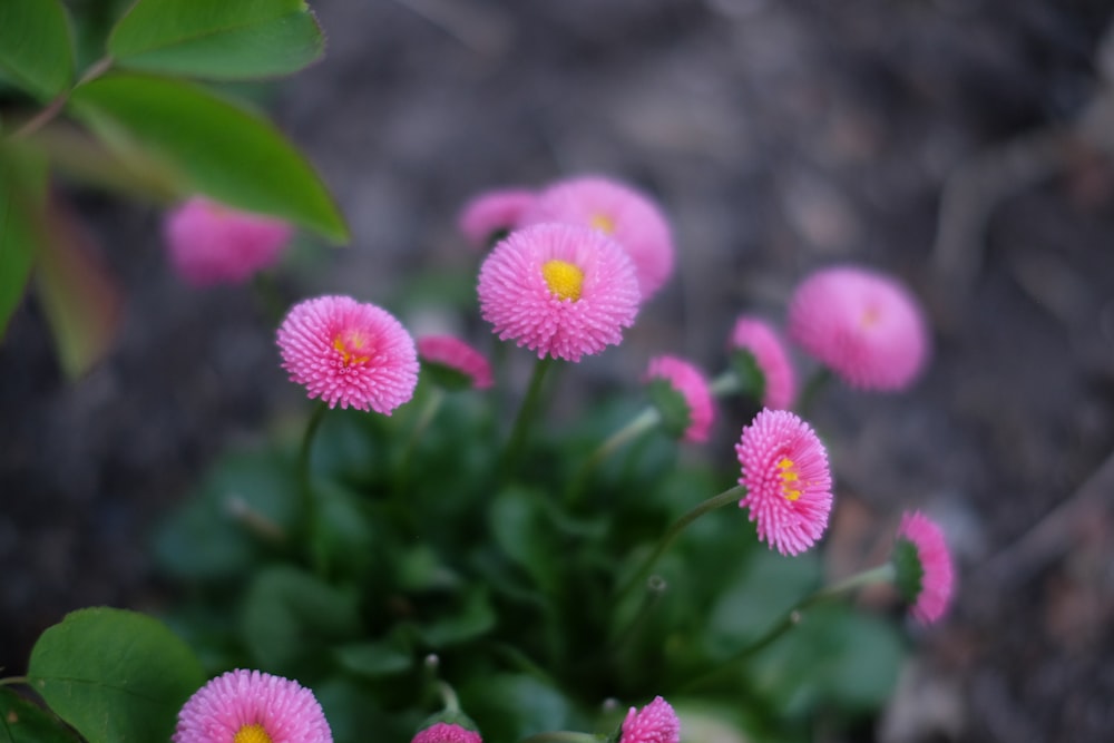
M 46 189 L 46 158 L 31 150 L 0 148 L 0 338 L 45 242 Z

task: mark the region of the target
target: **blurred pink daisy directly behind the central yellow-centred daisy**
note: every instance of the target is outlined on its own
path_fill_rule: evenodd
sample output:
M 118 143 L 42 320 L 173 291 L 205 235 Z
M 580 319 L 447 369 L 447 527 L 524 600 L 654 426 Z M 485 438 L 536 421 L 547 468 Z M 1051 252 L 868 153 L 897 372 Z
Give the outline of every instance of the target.
M 522 214 L 521 226 L 564 222 L 613 237 L 634 262 L 648 300 L 673 273 L 673 235 L 661 209 L 631 186 L 598 176 L 558 180 Z

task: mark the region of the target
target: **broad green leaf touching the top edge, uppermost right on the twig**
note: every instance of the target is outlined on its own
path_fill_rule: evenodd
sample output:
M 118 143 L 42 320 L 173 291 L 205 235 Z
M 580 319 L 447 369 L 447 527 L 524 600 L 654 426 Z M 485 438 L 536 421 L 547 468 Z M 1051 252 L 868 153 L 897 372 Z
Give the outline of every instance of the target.
M 302 0 L 140 0 L 108 39 L 120 67 L 208 79 L 287 75 L 323 50 Z

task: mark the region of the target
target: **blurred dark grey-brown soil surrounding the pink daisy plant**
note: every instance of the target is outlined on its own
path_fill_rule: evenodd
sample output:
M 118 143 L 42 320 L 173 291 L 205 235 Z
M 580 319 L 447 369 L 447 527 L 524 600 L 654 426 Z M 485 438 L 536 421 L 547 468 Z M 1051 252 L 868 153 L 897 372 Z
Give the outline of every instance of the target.
M 859 262 L 925 301 L 910 392 L 832 389 L 834 556 L 919 507 L 960 564 L 949 618 L 876 737 L 1114 739 L 1114 8 L 1104 0 L 380 0 L 311 3 L 325 59 L 276 117 L 352 247 L 292 296 L 388 296 L 467 265 L 481 188 L 605 173 L 653 193 L 678 272 L 639 350 L 707 368 L 741 311 L 783 316 L 809 270 Z M 1104 51 L 1105 50 L 1105 51 Z M 155 608 L 153 519 L 297 391 L 240 290 L 180 285 L 157 214 L 77 194 L 127 305 L 86 379 L 29 302 L 0 346 L 0 666 L 71 608 Z M 603 372 L 602 372 L 603 373 Z M 724 431 L 730 439 L 737 432 Z

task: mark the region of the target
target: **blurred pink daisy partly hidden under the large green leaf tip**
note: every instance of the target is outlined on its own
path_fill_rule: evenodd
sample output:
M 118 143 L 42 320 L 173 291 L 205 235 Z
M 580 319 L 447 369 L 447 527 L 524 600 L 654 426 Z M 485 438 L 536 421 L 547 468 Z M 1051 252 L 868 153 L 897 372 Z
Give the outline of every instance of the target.
M 273 266 L 293 233 L 280 219 L 201 196 L 170 212 L 163 227 L 170 263 L 195 286 L 243 283 Z

